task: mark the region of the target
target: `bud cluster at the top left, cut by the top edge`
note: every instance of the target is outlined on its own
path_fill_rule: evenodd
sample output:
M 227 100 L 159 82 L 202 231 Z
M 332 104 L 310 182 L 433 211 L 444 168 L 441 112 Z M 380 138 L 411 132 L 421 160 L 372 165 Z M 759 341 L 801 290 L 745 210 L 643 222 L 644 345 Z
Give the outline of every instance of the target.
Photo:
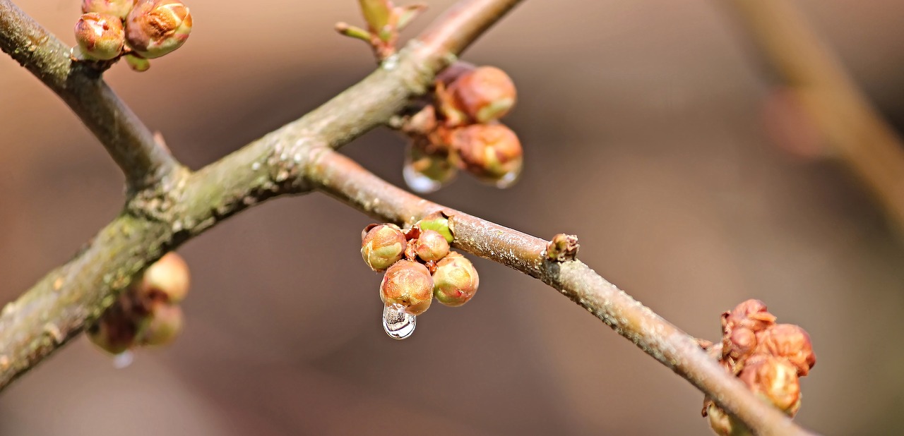
M 178 0 L 82 0 L 75 23 L 73 60 L 112 61 L 125 57 L 137 71 L 184 44 L 192 14 Z

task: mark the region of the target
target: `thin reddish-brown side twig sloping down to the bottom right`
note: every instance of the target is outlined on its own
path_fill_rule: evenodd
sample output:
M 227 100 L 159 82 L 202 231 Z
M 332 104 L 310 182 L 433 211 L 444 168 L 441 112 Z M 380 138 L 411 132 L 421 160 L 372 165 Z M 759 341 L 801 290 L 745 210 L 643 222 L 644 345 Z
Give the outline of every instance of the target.
M 645 353 L 716 399 L 757 434 L 811 434 L 759 400 L 730 376 L 695 339 L 608 283 L 578 260 L 552 262 L 548 241 L 447 209 L 400 190 L 335 152 L 320 153 L 307 171 L 314 187 L 385 221 L 413 224 L 442 211 L 453 227 L 454 245 L 540 279 L 630 339 Z

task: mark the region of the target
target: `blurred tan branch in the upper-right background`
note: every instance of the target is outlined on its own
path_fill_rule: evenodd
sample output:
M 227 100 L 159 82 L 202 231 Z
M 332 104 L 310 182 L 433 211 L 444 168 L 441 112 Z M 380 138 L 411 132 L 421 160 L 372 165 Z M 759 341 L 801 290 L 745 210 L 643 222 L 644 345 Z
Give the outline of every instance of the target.
M 786 0 L 730 0 L 788 102 L 815 128 L 817 146 L 843 162 L 904 230 L 904 142 L 872 107 L 831 49 Z M 792 109 L 793 110 L 793 109 Z M 803 134 L 806 135 L 806 134 Z M 828 153 L 825 153 L 828 152 Z

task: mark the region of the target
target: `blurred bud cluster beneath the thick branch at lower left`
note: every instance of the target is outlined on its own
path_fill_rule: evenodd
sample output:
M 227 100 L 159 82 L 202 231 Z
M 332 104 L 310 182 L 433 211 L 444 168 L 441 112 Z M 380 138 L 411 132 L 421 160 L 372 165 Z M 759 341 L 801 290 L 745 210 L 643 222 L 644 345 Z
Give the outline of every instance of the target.
M 188 293 L 188 265 L 167 253 L 149 266 L 88 329 L 99 348 L 118 355 L 128 349 L 166 345 L 182 331 L 179 303 Z

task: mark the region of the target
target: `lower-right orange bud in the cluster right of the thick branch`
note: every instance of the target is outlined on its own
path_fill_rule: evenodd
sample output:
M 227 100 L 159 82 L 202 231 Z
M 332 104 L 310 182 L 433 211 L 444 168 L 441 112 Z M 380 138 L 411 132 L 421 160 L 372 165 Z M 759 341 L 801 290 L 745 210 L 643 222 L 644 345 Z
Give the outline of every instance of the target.
M 518 135 L 501 124 L 467 125 L 452 131 L 449 144 L 460 167 L 480 181 L 508 188 L 518 180 L 523 150 Z

